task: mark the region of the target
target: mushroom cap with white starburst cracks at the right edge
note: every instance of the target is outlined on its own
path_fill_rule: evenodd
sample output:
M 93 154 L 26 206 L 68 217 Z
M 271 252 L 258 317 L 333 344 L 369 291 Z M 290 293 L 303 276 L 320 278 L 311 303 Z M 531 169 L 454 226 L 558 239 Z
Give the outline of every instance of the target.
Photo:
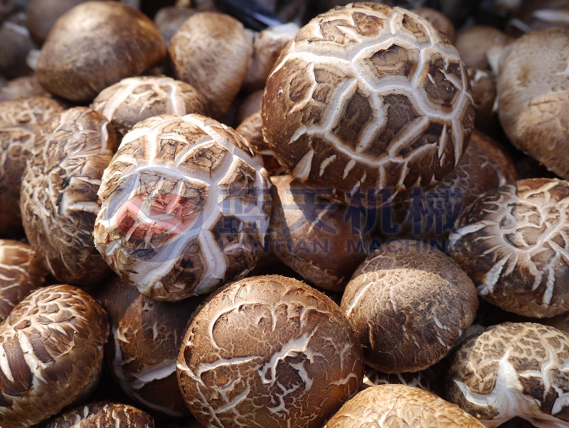
M 569 182 L 523 179 L 484 194 L 450 234 L 480 297 L 533 318 L 569 310 Z

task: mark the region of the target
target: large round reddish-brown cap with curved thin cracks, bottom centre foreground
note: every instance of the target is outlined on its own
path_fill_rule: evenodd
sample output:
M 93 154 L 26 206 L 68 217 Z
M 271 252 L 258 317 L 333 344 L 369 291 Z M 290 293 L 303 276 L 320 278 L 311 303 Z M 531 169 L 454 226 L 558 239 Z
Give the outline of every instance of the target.
M 363 377 L 336 303 L 277 275 L 214 293 L 188 326 L 177 367 L 189 409 L 216 428 L 320 428 Z

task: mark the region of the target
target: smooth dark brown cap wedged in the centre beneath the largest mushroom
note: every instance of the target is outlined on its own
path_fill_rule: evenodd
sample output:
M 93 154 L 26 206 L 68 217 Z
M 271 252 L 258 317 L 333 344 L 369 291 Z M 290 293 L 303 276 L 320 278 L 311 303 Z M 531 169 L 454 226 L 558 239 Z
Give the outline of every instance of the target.
M 367 256 L 366 251 L 356 251 L 360 241 L 368 241 L 365 224 L 358 224 L 357 218 L 346 220 L 348 207 L 331 204 L 289 175 L 271 181 L 275 193 L 270 244 L 275 253 L 305 281 L 343 291 Z

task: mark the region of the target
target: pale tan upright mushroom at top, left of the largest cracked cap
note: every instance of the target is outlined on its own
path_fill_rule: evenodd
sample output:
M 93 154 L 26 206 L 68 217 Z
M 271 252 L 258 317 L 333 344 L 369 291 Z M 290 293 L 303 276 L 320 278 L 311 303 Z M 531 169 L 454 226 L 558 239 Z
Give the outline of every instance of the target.
M 252 38 L 232 16 L 201 12 L 171 38 L 168 52 L 179 80 L 198 88 L 214 118 L 228 112 L 245 80 Z

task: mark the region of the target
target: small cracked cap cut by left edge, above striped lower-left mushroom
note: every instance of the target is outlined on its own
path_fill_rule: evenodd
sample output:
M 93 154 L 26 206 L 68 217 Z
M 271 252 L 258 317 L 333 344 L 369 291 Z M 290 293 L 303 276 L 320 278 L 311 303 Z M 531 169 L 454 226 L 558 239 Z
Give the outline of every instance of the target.
M 29 293 L 46 285 L 47 274 L 31 246 L 0 239 L 0 322 Z

